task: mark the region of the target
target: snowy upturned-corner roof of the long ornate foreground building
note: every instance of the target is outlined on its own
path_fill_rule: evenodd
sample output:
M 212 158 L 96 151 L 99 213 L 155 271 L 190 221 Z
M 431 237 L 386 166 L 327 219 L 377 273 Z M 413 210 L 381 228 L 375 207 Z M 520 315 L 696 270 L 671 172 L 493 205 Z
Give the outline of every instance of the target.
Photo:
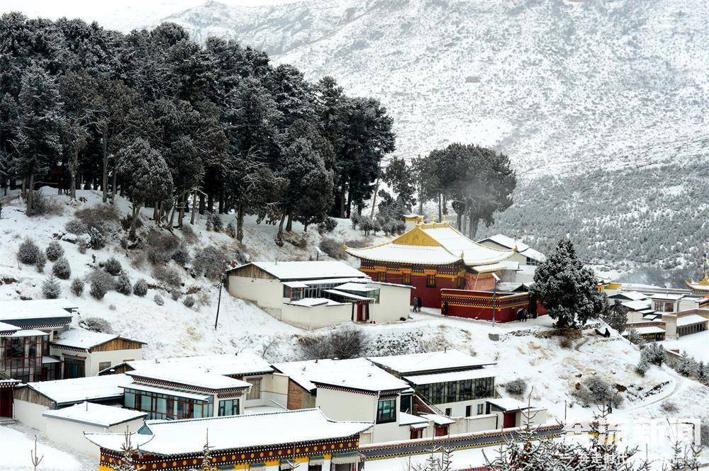
M 348 438 L 371 427 L 371 422 L 333 421 L 319 409 L 301 409 L 208 419 L 151 420 L 145 422 L 145 434 L 134 434 L 132 441 L 145 453 L 181 455 L 201 453 L 207 431 L 209 444 L 216 452 Z M 121 450 L 125 441 L 123 433 L 86 433 L 86 438 L 109 450 Z

